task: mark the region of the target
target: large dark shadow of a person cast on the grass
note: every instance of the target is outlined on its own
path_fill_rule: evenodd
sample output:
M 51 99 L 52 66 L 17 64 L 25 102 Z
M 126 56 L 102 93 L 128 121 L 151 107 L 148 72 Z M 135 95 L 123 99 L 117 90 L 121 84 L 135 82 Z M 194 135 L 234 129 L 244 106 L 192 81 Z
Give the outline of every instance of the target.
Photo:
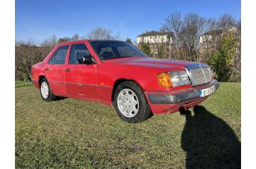
M 181 147 L 186 151 L 186 168 L 241 168 L 241 143 L 233 129 L 205 107 L 181 111 L 186 124 Z

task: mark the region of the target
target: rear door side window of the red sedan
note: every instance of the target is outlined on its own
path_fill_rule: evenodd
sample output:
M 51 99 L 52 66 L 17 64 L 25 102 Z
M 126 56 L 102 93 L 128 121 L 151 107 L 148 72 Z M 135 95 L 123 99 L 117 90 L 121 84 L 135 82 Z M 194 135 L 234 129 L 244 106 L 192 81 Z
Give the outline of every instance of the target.
M 64 65 L 68 47 L 69 45 L 60 46 L 60 48 L 53 54 L 52 58 L 50 58 L 48 64 Z

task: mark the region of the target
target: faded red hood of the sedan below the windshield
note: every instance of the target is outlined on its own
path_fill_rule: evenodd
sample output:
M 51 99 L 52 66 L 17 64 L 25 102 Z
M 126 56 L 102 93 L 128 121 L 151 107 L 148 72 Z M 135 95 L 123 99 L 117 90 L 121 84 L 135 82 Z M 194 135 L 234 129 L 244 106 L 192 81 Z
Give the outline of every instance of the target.
M 183 61 L 183 60 L 170 60 L 170 59 L 156 59 L 146 57 L 131 57 L 131 58 L 118 58 L 112 60 L 104 60 L 117 65 L 137 65 L 142 67 L 154 67 L 164 70 L 184 70 L 191 67 L 206 67 L 207 65 L 198 62 Z

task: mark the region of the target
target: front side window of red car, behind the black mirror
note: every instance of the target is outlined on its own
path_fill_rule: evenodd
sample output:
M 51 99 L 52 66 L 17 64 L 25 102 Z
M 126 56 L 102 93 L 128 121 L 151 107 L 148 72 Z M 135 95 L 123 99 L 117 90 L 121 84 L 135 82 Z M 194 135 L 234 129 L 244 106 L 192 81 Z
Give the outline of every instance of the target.
M 90 55 L 90 52 L 84 43 L 75 44 L 71 46 L 68 64 L 90 65 L 92 63 L 95 63 L 95 60 L 94 58 L 92 58 L 92 55 Z

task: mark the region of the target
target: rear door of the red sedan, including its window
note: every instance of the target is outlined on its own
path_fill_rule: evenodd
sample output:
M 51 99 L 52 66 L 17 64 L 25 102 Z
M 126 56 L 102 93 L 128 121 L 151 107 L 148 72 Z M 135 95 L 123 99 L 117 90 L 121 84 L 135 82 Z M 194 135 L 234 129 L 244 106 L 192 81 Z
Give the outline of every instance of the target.
M 50 60 L 45 67 L 46 77 L 53 89 L 54 94 L 65 95 L 65 60 L 68 55 L 68 48 L 70 45 L 60 46 L 55 53 L 53 53 Z

